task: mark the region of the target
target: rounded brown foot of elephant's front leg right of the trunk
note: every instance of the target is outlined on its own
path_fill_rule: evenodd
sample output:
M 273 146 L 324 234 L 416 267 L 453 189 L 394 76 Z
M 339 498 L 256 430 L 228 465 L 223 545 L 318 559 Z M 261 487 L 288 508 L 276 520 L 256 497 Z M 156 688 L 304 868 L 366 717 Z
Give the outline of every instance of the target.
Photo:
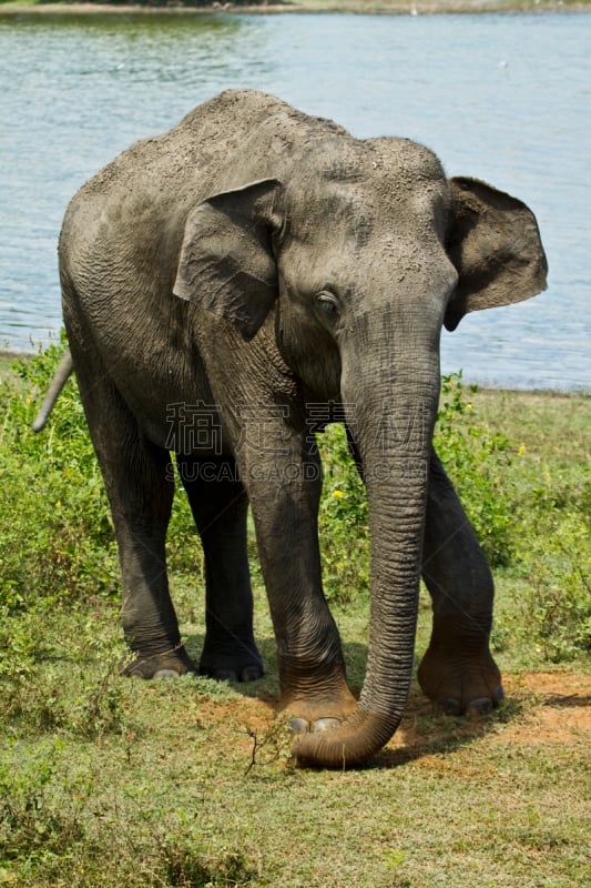
M 418 680 L 424 694 L 448 715 L 479 717 L 505 697 L 501 674 L 488 644 L 476 653 L 462 653 L 459 644 L 431 642 L 419 666 Z

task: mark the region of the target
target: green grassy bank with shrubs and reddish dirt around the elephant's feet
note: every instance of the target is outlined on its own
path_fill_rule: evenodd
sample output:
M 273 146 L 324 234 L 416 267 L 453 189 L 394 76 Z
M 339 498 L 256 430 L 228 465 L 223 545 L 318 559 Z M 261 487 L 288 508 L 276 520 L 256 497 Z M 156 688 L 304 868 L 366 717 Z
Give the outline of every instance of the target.
M 134 683 L 102 484 L 75 385 L 30 423 L 57 350 L 0 365 L 0 885 L 573 888 L 588 884 L 591 676 L 584 395 L 445 381 L 438 446 L 495 565 L 507 703 L 481 722 L 412 686 L 388 747 L 353 773 L 294 770 L 252 544 L 267 674 Z M 323 441 L 327 595 L 350 680 L 366 657 L 366 506 L 343 436 Z M 203 639 L 203 565 L 177 497 L 173 595 Z M 417 660 L 429 633 L 424 596 Z

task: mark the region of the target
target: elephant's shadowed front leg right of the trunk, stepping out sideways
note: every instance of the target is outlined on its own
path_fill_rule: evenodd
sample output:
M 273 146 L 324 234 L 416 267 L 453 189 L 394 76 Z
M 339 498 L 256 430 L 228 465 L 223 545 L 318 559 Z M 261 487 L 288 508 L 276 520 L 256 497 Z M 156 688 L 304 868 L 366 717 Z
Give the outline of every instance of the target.
M 435 452 L 422 557 L 434 625 L 418 670 L 419 684 L 449 714 L 489 712 L 503 696 L 501 676 L 489 648 L 492 576 Z

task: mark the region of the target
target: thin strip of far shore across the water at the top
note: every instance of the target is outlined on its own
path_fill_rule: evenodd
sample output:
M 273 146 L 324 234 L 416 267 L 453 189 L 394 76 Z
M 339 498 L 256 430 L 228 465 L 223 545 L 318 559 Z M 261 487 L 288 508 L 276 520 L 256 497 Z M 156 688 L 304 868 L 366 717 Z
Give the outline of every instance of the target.
M 364 14 L 364 16 L 437 16 L 585 12 L 591 0 L 294 0 L 266 6 L 235 6 L 212 2 L 206 7 L 137 6 L 135 3 L 38 3 L 0 2 L 0 17 L 19 19 L 78 16 L 282 16 L 282 14 Z

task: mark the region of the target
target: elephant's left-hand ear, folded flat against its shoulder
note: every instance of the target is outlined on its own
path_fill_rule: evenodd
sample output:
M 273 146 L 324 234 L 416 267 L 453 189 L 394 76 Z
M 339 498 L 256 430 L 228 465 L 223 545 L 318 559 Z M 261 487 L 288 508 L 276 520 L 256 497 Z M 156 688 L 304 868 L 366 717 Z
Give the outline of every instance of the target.
M 173 292 L 232 321 L 252 340 L 277 296 L 272 241 L 281 182 L 264 179 L 213 194 L 187 216 Z

